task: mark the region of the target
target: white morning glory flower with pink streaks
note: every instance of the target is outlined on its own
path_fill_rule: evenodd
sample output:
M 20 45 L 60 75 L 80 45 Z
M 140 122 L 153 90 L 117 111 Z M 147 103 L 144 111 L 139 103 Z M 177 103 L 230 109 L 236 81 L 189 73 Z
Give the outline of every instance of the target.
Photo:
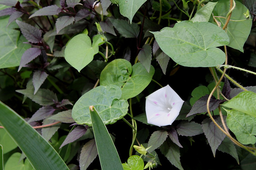
M 171 125 L 178 117 L 184 101 L 169 86 L 156 90 L 146 97 L 146 115 L 149 124 Z

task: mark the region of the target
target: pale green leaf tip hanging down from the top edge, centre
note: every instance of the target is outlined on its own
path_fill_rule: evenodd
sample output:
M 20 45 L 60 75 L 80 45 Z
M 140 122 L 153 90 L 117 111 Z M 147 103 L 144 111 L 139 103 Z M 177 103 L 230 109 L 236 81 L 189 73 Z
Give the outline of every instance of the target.
M 133 16 L 146 1 L 147 0 L 119 0 L 120 14 L 127 17 L 130 23 L 132 23 Z

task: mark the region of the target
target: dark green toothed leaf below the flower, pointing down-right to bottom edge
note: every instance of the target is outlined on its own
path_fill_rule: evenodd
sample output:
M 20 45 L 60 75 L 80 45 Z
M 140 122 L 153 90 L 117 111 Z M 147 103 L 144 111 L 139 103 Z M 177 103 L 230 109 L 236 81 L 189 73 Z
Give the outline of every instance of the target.
M 163 145 L 160 146 L 162 154 L 179 170 L 183 170 L 180 163 L 180 148 L 175 145 L 170 139 L 166 140 Z

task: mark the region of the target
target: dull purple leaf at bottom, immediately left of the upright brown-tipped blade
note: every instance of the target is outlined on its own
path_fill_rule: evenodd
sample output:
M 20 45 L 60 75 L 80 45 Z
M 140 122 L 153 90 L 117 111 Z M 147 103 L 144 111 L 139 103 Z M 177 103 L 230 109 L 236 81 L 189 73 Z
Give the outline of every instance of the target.
M 81 170 L 86 170 L 98 155 L 95 139 L 87 142 L 81 150 L 79 165 Z

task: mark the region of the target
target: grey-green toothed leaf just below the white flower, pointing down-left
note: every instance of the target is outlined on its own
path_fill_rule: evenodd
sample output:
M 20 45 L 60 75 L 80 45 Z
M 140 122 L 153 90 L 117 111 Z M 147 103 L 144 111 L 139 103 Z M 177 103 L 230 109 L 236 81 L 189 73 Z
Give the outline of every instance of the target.
M 164 131 L 164 130 L 154 131 L 154 133 L 152 133 L 148 141 L 148 147 L 150 147 L 148 149 L 148 152 L 151 153 L 153 150 L 160 147 L 164 143 L 167 137 L 168 137 L 167 131 Z

